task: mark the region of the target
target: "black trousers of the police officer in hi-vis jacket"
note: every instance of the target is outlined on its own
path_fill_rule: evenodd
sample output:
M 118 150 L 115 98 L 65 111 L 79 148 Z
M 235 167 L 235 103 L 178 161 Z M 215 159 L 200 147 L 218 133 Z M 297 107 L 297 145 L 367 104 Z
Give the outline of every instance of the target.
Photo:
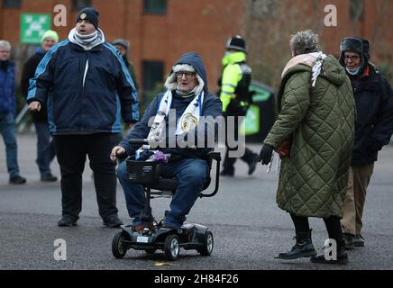
M 228 127 L 228 121 L 226 121 L 226 125 L 225 125 L 225 145 L 226 145 L 226 153 L 225 153 L 225 157 L 224 157 L 224 170 L 228 171 L 228 172 L 232 172 L 234 170 L 234 163 L 236 162 L 237 158 L 236 157 L 229 157 L 229 151 L 235 151 L 238 148 L 230 148 L 228 145 L 228 130 L 232 130 L 234 132 L 234 139 L 237 141 L 239 139 L 239 119 L 238 117 L 241 116 L 245 116 L 247 112 L 247 109 L 240 106 L 240 104 L 238 103 L 234 103 L 234 101 L 232 101 L 227 109 L 227 116 L 234 116 L 234 127 Z M 226 119 L 225 119 L 226 120 Z M 245 145 L 245 143 L 240 143 L 242 145 Z M 240 157 L 244 162 L 246 163 L 250 163 L 255 157 L 257 157 L 258 155 L 256 155 L 254 152 L 251 151 L 251 149 L 249 148 L 245 148 L 244 149 L 244 155 L 242 157 Z

